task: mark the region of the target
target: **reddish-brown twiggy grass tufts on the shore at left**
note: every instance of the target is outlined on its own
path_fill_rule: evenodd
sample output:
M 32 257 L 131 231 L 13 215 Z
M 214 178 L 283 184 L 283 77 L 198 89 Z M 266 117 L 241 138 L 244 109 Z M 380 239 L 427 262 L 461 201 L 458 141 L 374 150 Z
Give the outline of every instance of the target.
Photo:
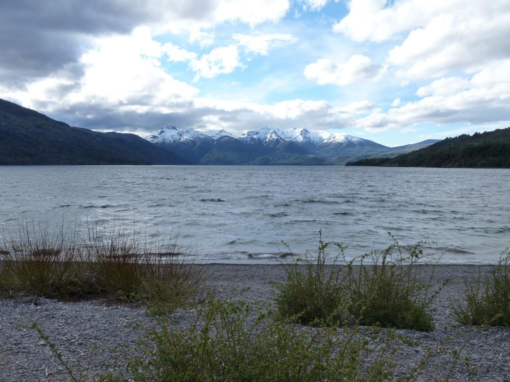
M 158 237 L 147 241 L 123 221 L 111 226 L 88 223 L 87 234 L 50 232 L 20 224 L 4 232 L 0 288 L 34 297 L 110 296 L 149 302 L 156 310 L 182 304 L 200 289 L 193 256 Z M 168 247 L 172 250 L 169 252 Z

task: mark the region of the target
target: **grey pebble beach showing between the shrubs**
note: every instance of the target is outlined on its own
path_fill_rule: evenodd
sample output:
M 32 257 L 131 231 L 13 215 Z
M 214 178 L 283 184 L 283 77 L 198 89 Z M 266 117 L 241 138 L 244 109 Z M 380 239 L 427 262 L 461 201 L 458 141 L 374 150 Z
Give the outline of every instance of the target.
M 219 297 L 226 297 L 249 287 L 243 298 L 256 303 L 269 303 L 272 299 L 270 282 L 285 280 L 281 265 L 199 265 L 207 276 L 207 283 Z M 420 380 L 432 381 L 450 368 L 448 352 L 462 348 L 469 358 L 471 375 L 462 362 L 454 366 L 452 380 L 510 381 L 510 329 L 473 328 L 454 326 L 451 307 L 463 301 L 465 283 L 478 275 L 475 265 L 438 265 L 433 282 L 449 283 L 434 303 L 436 329 L 429 333 L 399 330 L 400 334 L 420 341 L 417 348 L 402 350 L 405 361 L 399 366 L 402 373 L 417 362 L 427 348 L 442 346 L 445 351 L 438 357 Z M 490 273 L 491 266 L 482 266 L 482 277 Z M 430 275 L 429 267 L 420 269 L 420 277 Z M 178 310 L 172 314 L 172 322 L 186 324 L 190 314 Z M 133 326 L 149 326 L 153 323 L 143 308 L 112 304 L 111 301 L 92 300 L 83 302 L 58 302 L 47 299 L 15 297 L 0 300 L 0 380 L 18 381 L 66 381 L 69 380 L 50 349 L 30 328 L 37 321 L 62 351 L 71 366 L 80 362 L 88 368 L 90 380 L 103 370 L 116 354 L 115 346 L 133 344 L 140 332 Z M 96 349 L 94 349 L 96 347 Z

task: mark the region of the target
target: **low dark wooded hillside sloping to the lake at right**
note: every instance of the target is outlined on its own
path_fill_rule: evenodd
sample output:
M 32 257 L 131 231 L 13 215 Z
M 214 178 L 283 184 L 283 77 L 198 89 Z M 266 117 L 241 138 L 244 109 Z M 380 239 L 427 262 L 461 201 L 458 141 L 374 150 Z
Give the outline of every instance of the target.
M 346 166 L 510 168 L 510 127 L 447 138 L 394 158 L 371 158 Z

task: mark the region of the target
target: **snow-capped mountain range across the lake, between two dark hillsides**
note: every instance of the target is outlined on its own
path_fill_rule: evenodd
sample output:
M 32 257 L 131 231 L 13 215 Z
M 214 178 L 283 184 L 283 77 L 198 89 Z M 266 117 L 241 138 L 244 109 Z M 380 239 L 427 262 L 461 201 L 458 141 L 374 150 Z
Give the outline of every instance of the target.
M 145 139 L 196 165 L 343 165 L 349 160 L 396 156 L 438 142 L 388 147 L 352 135 L 304 127 L 263 127 L 234 137 L 225 130 L 198 131 L 174 125 L 164 126 Z

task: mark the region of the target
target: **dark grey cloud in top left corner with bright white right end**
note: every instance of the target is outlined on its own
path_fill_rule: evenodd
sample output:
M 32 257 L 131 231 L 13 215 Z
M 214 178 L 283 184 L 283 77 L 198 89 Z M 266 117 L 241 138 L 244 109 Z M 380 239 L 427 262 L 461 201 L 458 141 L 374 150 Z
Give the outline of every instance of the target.
M 97 38 L 130 34 L 142 25 L 156 33 L 189 32 L 203 47 L 214 39 L 204 29 L 225 22 L 275 22 L 288 9 L 288 0 L 0 2 L 0 82 L 21 89 L 33 79 L 64 70 L 77 78 L 83 74 L 80 59 Z

